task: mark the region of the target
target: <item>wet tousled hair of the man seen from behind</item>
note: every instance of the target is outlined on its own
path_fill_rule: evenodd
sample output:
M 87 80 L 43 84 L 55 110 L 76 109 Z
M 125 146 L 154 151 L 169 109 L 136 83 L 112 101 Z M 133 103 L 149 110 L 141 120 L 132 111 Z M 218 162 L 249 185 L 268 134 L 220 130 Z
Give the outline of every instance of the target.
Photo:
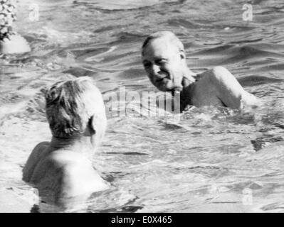
M 94 114 L 105 116 L 102 94 L 89 77 L 57 82 L 46 90 L 46 117 L 55 137 L 85 132 Z

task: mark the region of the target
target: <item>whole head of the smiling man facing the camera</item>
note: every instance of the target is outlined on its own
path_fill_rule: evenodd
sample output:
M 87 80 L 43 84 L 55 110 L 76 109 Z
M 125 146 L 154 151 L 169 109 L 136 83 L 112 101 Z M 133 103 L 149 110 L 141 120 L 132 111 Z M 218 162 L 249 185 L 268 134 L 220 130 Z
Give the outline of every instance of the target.
M 162 92 L 182 91 L 188 70 L 184 45 L 174 33 L 149 35 L 142 45 L 142 62 L 152 84 Z

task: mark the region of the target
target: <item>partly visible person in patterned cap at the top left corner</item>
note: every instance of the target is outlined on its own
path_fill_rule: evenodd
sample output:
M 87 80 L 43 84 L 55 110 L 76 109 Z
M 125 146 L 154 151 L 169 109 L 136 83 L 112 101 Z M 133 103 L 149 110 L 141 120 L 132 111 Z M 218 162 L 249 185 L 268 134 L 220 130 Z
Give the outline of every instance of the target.
M 12 30 L 15 20 L 15 6 L 10 0 L 0 0 L 0 54 L 31 51 L 26 40 Z

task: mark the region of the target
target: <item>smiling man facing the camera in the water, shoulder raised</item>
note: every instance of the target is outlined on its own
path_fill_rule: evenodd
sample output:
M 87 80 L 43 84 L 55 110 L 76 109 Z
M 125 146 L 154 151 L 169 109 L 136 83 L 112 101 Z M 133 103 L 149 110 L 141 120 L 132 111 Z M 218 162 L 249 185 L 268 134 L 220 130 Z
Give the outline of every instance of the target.
M 194 74 L 186 65 L 184 45 L 174 33 L 149 35 L 142 45 L 144 70 L 157 89 L 180 93 L 181 109 L 186 106 L 226 106 L 241 109 L 256 105 L 258 99 L 246 92 L 224 67 Z

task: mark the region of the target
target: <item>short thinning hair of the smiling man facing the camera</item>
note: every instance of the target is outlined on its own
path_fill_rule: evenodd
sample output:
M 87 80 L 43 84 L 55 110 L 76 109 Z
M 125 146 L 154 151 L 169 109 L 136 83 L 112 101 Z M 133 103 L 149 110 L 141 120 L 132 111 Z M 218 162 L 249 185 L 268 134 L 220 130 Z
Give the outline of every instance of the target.
M 168 42 L 177 45 L 177 48 L 180 52 L 184 52 L 184 45 L 182 44 L 182 41 L 177 38 L 177 35 L 174 35 L 174 33 L 170 31 L 159 31 L 157 33 L 152 33 L 151 35 L 148 35 L 146 40 L 144 40 L 144 43 L 142 45 L 142 56 L 144 55 L 144 50 L 145 48 L 147 48 L 149 42 L 157 38 L 164 38 Z

